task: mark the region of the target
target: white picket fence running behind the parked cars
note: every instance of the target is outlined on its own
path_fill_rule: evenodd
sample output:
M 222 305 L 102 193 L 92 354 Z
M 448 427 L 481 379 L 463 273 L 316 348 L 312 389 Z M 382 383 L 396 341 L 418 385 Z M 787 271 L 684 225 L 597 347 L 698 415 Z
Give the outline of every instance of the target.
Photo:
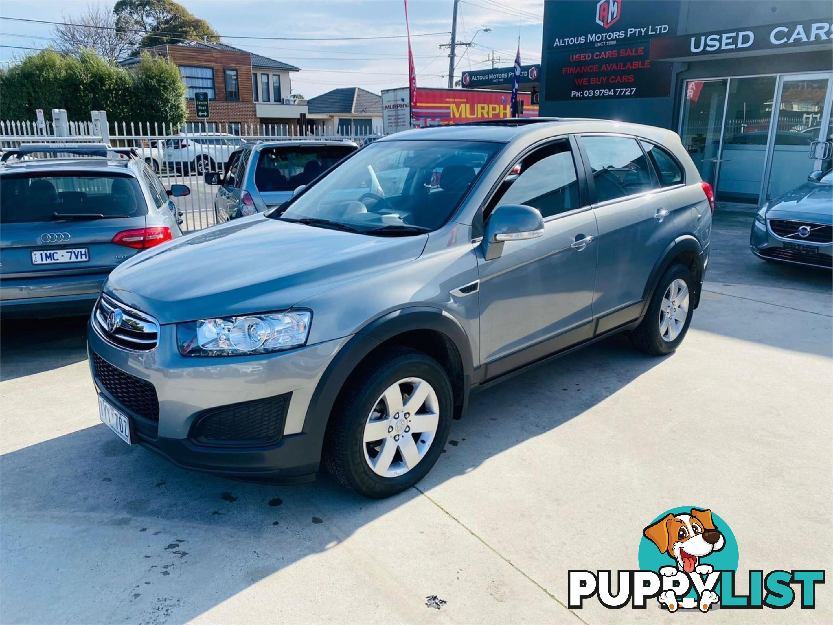
M 211 133 L 191 133 L 173 124 L 162 123 L 107 123 L 106 116 L 101 121 L 93 120 L 67 122 L 44 120 L 40 127 L 33 122 L 0 121 L 0 150 L 17 148 L 21 143 L 109 143 L 114 148 L 137 148 L 140 157 L 151 166 L 162 179 L 162 184 L 186 184 L 191 194 L 184 198 L 175 198 L 177 208 L 182 211 L 182 229 L 186 231 L 208 228 L 215 223 L 214 196 L 217 187 L 206 184 L 202 173 L 197 171 L 197 163 L 183 163 L 175 168 L 167 167 L 165 146 L 172 139 L 239 139 L 242 142 L 315 140 L 348 140 L 360 146 L 367 138 L 379 137 L 381 132 L 324 134 L 321 128 L 298 128 L 292 124 L 221 124 L 213 125 Z M 227 135 L 233 135 L 228 137 Z M 233 147 L 208 149 L 206 153 L 222 153 L 227 158 Z M 220 160 L 217 158 L 217 160 Z M 215 159 L 212 158 L 212 162 Z M 224 163 L 214 163 L 220 169 Z

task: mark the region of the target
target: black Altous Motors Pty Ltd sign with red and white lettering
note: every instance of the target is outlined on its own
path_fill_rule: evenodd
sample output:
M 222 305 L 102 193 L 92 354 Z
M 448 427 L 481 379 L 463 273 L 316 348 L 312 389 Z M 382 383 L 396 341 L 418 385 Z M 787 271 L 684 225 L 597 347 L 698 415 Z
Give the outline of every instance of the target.
M 667 97 L 671 62 L 651 47 L 676 33 L 678 0 L 563 0 L 545 35 L 546 100 Z

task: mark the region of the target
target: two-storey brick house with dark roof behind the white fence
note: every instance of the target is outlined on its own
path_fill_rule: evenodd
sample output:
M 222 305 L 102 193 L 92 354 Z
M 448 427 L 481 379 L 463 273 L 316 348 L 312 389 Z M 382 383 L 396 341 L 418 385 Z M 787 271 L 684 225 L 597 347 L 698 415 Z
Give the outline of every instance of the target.
M 178 42 L 144 48 L 167 57 L 179 67 L 187 86 L 187 132 L 223 131 L 239 134 L 247 124 L 304 126 L 307 103 L 292 102 L 295 67 L 226 43 Z M 120 61 L 124 67 L 139 61 Z M 208 92 L 209 117 L 198 119 L 194 93 Z

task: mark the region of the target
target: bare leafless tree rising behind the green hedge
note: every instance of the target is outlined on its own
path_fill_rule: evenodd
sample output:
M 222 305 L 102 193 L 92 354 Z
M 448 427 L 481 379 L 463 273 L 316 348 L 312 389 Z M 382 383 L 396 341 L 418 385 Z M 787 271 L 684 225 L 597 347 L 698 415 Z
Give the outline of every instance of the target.
M 85 13 L 62 16 L 62 20 L 52 31 L 59 52 L 78 54 L 92 48 L 107 61 L 115 62 L 136 47 L 136 37 L 117 31 L 116 16 L 102 5 L 89 4 Z

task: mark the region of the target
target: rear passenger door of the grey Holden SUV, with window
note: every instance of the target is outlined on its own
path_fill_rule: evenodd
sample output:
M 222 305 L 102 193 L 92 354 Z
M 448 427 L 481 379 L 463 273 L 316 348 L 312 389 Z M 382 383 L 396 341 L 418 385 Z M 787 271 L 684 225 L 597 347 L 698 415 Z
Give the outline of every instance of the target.
M 601 318 L 603 332 L 639 316 L 651 270 L 676 229 L 636 138 L 584 135 L 580 140 L 599 227 L 593 313 Z

